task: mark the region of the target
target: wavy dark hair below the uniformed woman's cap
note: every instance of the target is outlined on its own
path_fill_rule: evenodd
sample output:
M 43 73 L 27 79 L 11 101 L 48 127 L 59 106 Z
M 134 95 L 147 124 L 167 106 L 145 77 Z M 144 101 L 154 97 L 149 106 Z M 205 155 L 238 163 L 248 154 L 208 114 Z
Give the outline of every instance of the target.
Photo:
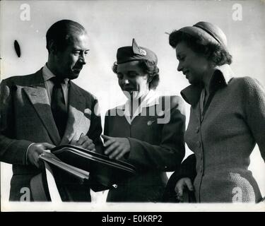
M 112 71 L 117 74 L 117 62 L 114 62 L 112 66 Z M 148 85 L 149 90 L 155 90 L 158 87 L 159 83 L 159 69 L 154 61 L 140 60 L 139 67 L 143 70 L 144 73 L 148 75 Z

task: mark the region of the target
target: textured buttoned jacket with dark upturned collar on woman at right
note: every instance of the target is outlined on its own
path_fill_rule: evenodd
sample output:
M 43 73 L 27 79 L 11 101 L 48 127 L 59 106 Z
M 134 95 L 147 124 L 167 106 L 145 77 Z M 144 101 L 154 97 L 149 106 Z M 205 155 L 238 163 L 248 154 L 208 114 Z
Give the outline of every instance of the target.
M 224 65 L 213 74 L 202 113 L 201 90 L 195 85 L 182 90 L 192 105 L 184 140 L 196 157 L 196 201 L 259 201 L 259 187 L 248 167 L 256 143 L 265 160 L 264 88 L 253 78 L 233 78 Z

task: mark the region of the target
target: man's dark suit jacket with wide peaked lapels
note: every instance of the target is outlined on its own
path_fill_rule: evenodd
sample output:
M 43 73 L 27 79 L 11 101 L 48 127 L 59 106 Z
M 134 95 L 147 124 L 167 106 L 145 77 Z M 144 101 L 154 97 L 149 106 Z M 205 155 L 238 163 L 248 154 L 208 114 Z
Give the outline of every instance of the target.
M 40 169 L 26 162 L 30 143 L 62 145 L 72 139 L 78 140 L 81 133 L 87 134 L 96 145 L 101 143 L 101 121 L 94 110 L 98 107 L 98 100 L 71 81 L 68 121 L 63 138 L 60 138 L 52 116 L 42 69 L 28 76 L 2 81 L 0 97 L 0 160 L 13 165 L 11 201 L 19 201 L 20 189 L 30 188 L 30 179 L 40 173 Z

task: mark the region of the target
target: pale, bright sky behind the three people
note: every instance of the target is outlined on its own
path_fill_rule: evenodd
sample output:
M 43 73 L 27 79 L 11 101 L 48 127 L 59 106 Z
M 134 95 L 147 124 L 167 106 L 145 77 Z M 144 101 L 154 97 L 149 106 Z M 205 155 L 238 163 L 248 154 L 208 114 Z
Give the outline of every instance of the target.
M 20 19 L 21 4 L 30 6 L 28 21 Z M 232 18 L 235 4 L 242 6 L 242 20 Z M 158 92 L 179 95 L 189 84 L 177 71 L 165 32 L 199 21 L 215 23 L 225 32 L 237 76 L 257 78 L 265 86 L 264 1 L 1 1 L 0 6 L 1 79 L 39 70 L 47 61 L 47 29 L 57 20 L 76 20 L 88 30 L 90 52 L 75 82 L 98 97 L 102 115 L 126 100 L 111 67 L 117 48 L 131 45 L 133 37 L 158 55 Z M 20 44 L 20 58 L 14 40 Z M 265 196 L 265 166 L 258 148 L 250 169 Z M 10 179 L 11 165 L 1 163 L 1 201 L 8 199 Z

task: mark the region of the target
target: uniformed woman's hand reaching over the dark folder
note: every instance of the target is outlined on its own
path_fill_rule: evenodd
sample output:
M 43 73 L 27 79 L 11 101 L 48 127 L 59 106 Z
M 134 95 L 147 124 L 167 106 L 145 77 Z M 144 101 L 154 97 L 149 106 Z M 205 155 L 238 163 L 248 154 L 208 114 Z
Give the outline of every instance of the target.
M 127 138 L 111 137 L 105 135 L 101 136 L 105 140 L 104 147 L 107 147 L 105 154 L 109 155 L 110 158 L 119 160 L 131 150 L 129 140 Z

